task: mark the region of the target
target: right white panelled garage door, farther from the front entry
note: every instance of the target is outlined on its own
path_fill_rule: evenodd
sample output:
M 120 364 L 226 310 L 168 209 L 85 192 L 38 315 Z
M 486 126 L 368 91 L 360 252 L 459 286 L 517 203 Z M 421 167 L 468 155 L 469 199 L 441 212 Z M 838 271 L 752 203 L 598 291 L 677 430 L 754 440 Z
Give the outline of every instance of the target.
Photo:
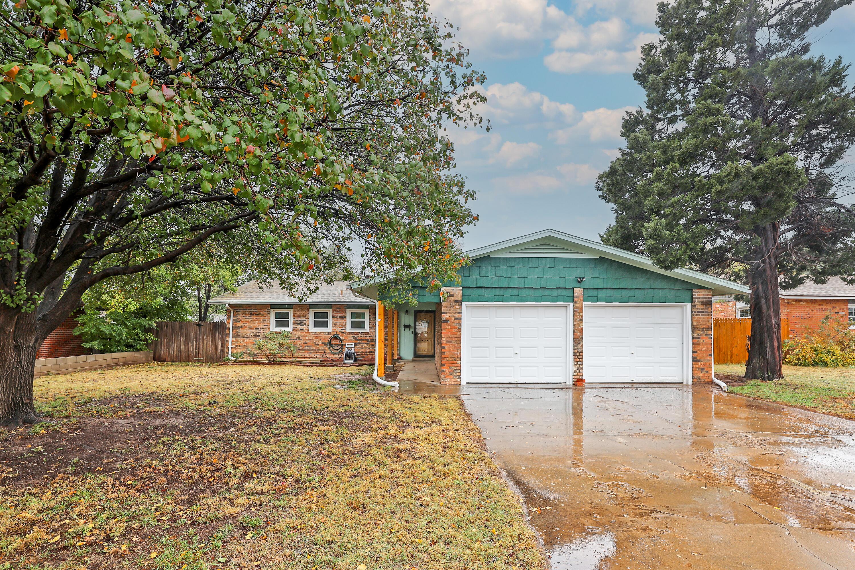
M 585 305 L 586 382 L 682 382 L 682 306 Z

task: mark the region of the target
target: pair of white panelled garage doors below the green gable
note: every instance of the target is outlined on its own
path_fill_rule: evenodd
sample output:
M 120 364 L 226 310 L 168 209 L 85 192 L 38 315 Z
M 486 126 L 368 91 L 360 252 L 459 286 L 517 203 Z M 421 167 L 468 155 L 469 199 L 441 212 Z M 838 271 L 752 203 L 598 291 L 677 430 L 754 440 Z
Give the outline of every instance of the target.
M 468 303 L 463 381 L 566 383 L 572 370 L 572 305 Z M 587 382 L 686 379 L 681 305 L 585 305 Z

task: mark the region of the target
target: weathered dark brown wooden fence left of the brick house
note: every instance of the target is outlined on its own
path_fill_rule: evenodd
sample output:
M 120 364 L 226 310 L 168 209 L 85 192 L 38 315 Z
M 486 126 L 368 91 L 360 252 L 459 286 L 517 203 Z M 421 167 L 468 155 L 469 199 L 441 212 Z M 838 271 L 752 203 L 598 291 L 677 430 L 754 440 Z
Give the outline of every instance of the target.
M 164 320 L 155 336 L 151 350 L 158 362 L 220 362 L 227 355 L 224 322 Z

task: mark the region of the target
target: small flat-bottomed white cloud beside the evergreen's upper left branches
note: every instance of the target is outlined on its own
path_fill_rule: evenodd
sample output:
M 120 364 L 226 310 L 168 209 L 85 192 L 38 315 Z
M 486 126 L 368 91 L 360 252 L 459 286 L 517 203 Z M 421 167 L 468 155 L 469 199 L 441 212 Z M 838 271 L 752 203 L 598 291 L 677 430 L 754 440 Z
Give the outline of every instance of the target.
M 622 25 L 622 21 L 618 22 Z M 620 27 L 612 21 L 598 23 Z M 658 38 L 655 33 L 640 33 L 633 38 L 631 48 L 609 49 L 605 47 L 610 45 L 606 43 L 609 36 L 604 29 L 592 30 L 594 26 L 587 28 L 586 32 L 589 32 L 587 37 L 580 34 L 559 37 L 560 45 L 568 47 L 577 45 L 581 49 L 553 51 L 543 58 L 546 68 L 557 73 L 631 73 L 641 61 L 641 46 Z M 590 32 L 593 32 L 593 35 Z M 620 43 L 622 42 L 616 42 L 616 44 Z

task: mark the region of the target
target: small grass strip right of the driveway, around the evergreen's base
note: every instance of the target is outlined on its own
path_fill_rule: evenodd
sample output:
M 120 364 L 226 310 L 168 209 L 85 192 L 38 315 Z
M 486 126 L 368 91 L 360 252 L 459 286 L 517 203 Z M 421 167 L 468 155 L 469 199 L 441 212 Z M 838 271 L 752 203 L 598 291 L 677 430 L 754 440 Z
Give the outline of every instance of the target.
M 716 364 L 716 375 L 726 381 L 741 381 L 745 372 L 746 367 L 741 364 Z M 852 367 L 784 366 L 784 379 L 748 380 L 728 385 L 728 390 L 855 420 L 855 368 Z

